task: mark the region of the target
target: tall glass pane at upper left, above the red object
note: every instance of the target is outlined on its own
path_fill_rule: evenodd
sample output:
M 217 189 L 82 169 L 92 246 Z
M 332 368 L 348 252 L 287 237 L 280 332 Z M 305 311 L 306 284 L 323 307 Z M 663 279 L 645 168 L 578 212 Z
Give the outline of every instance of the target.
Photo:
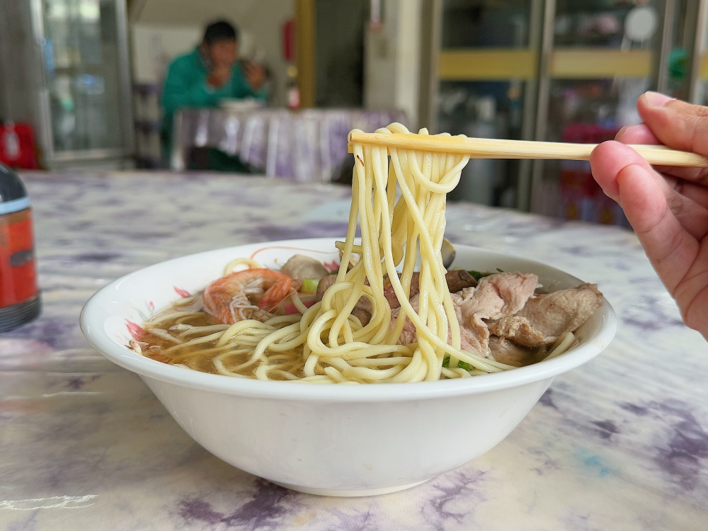
M 41 0 L 50 159 L 130 152 L 118 0 Z

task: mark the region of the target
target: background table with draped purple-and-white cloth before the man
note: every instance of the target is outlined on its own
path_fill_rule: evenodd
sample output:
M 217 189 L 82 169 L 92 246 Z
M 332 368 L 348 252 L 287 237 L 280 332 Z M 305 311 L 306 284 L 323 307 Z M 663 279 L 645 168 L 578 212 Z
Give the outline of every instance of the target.
M 331 181 L 347 156 L 353 129 L 373 132 L 392 122 L 406 124 L 396 110 L 184 108 L 174 119 L 170 167 L 187 167 L 191 149 L 210 147 L 238 155 L 271 177 Z

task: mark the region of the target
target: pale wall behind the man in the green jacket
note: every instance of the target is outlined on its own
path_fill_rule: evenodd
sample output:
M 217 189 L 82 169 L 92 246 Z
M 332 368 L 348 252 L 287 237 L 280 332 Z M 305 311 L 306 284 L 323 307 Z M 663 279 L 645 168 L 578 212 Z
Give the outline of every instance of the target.
M 225 18 L 238 26 L 239 52 L 268 65 L 276 104 L 285 102 L 287 64 L 282 25 L 295 16 L 294 0 L 133 0 L 130 6 L 135 81 L 160 81 L 164 64 L 191 50 L 205 25 Z

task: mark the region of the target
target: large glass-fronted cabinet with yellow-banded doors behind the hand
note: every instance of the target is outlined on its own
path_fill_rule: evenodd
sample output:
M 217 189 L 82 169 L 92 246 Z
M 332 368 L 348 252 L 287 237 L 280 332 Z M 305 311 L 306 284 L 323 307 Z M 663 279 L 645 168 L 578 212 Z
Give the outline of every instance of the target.
M 421 114 L 432 130 L 595 143 L 639 122 L 636 98 L 646 90 L 690 98 L 694 86 L 693 99 L 704 98 L 708 74 L 695 73 L 708 72 L 706 0 L 428 2 L 437 79 Z M 587 162 L 487 161 L 478 170 L 462 199 L 626 223 Z

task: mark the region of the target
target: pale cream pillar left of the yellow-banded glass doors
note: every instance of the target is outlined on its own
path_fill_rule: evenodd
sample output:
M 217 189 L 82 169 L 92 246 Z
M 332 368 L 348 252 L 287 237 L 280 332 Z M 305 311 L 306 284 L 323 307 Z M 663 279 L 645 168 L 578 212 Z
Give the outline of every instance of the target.
M 421 0 L 382 0 L 381 28 L 365 32 L 364 104 L 404 110 L 418 127 Z M 425 124 L 423 124 L 425 125 Z

